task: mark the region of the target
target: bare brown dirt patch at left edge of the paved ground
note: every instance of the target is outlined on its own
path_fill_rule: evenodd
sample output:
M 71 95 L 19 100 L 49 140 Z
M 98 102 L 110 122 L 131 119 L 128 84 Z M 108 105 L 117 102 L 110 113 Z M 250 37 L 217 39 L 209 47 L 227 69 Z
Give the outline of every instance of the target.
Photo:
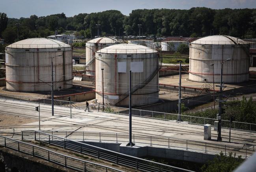
M 30 119 L 30 118 L 0 114 L 0 126 L 22 125 L 22 124 L 28 124 L 36 121 L 37 120 Z

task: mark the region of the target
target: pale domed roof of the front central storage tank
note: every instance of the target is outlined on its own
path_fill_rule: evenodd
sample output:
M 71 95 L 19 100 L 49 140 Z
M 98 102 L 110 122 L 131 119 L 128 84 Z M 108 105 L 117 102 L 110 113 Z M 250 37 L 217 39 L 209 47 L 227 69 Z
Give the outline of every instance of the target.
M 145 54 L 157 53 L 156 50 L 139 44 L 116 44 L 103 48 L 97 53 L 107 54 Z

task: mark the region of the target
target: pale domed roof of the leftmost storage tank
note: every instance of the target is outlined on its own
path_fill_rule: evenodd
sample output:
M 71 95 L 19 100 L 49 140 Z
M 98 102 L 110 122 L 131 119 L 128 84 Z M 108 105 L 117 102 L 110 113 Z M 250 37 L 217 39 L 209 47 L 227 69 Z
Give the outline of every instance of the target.
M 53 40 L 53 39 L 47 39 L 47 38 L 24 39 L 7 46 L 7 48 L 62 48 L 62 47 L 70 47 L 70 45 L 60 41 Z

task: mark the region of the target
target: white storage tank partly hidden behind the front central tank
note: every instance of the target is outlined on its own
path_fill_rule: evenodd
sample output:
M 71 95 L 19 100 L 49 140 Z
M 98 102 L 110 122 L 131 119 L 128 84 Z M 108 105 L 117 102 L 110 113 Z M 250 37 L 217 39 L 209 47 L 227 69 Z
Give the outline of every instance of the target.
M 101 37 L 86 43 L 86 74 L 95 76 L 95 52 L 110 45 L 119 43 L 116 39 Z

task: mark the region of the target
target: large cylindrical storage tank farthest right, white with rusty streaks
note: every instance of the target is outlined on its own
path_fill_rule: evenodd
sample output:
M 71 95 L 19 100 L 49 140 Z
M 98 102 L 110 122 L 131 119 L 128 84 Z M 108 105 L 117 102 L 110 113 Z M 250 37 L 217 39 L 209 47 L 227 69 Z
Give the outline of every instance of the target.
M 225 35 L 208 36 L 193 41 L 189 48 L 189 80 L 212 83 L 214 76 L 214 82 L 219 83 L 221 63 L 231 59 L 223 63 L 224 83 L 248 81 L 249 46 L 241 39 Z

